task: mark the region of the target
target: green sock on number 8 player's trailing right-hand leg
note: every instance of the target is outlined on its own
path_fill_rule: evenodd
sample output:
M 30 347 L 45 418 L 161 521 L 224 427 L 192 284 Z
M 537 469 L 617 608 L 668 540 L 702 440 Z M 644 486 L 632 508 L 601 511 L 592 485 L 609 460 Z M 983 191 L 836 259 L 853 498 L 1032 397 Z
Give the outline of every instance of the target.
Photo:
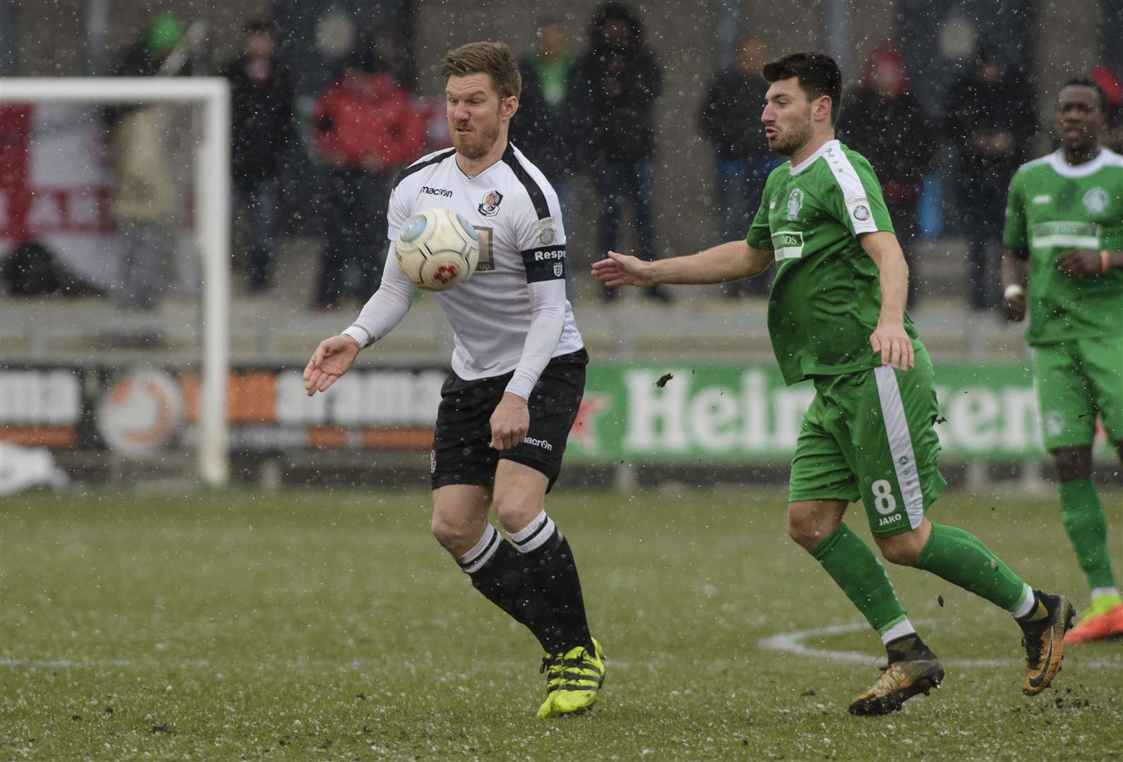
M 982 540 L 955 526 L 932 524 L 932 534 L 916 559 L 916 568 L 931 571 L 1007 612 L 1015 610 L 1025 597 L 1025 582 Z

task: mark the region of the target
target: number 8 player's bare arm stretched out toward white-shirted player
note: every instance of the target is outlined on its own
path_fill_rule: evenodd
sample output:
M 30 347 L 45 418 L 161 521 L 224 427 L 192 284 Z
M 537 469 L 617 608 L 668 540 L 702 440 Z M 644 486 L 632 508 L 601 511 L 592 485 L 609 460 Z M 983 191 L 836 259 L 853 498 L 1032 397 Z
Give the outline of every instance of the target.
M 593 276 L 606 286 L 724 283 L 759 275 L 772 261 L 772 251 L 755 249 L 740 240 L 657 261 L 609 251 L 606 259 L 593 263 Z

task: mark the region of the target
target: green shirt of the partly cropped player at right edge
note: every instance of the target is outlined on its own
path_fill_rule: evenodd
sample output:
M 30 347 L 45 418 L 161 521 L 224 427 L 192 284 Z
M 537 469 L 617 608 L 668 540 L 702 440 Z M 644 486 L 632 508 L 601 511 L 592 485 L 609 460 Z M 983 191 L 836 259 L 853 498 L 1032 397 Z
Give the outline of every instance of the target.
M 1010 181 L 1004 241 L 1030 254 L 1031 345 L 1123 337 L 1123 270 L 1074 277 L 1057 269 L 1072 249 L 1123 249 L 1123 156 L 1101 148 L 1070 166 L 1058 150 L 1023 164 Z

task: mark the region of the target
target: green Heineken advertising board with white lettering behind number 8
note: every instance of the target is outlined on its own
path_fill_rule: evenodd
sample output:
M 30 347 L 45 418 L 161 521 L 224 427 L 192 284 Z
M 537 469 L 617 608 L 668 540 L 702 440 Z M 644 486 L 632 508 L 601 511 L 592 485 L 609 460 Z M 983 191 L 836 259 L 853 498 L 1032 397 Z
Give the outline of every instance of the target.
M 1019 459 L 1043 453 L 1031 370 L 937 367 L 944 452 Z M 814 396 L 775 366 L 591 365 L 567 458 L 779 460 L 791 457 Z M 1103 440 L 1103 432 L 1099 432 Z

